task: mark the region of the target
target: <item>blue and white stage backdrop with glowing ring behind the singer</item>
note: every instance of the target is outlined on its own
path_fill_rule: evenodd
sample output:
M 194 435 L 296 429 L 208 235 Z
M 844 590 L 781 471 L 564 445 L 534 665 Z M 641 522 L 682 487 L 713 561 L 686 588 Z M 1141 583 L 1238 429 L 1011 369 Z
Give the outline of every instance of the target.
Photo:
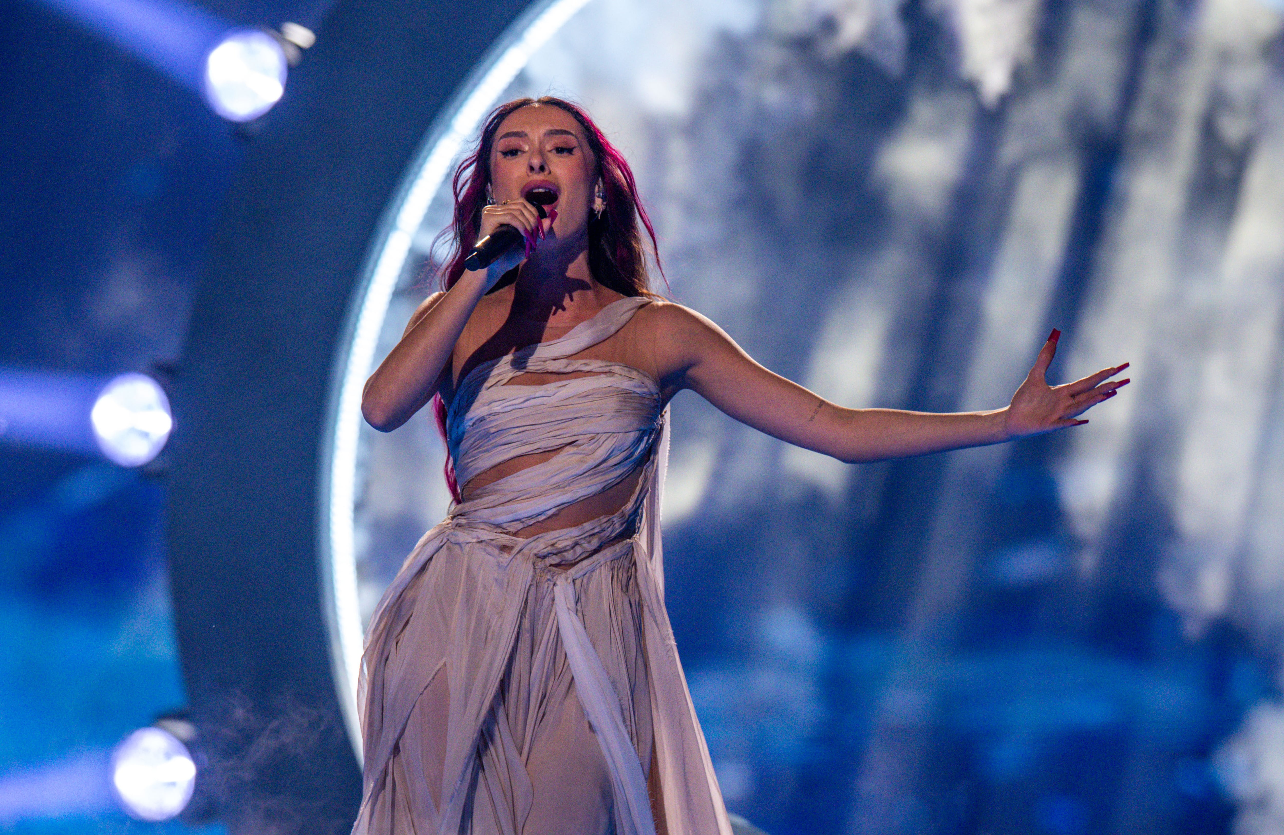
M 241 681 L 250 712 L 321 717 L 304 735 L 336 766 L 308 771 L 304 794 L 342 830 L 356 763 L 336 606 L 351 592 L 360 627 L 448 496 L 428 415 L 361 429 L 344 452 L 340 378 L 381 358 L 435 289 L 443 189 L 371 301 L 413 197 L 398 184 L 485 81 L 490 39 L 556 5 L 494 4 L 456 27 L 458 9 L 383 4 L 417 9 L 399 28 L 424 39 L 460 32 L 448 73 L 416 78 L 440 57 L 417 53 L 419 35 L 370 53 L 398 27 L 374 4 L 340 3 L 322 24 L 320 6 L 209 3 L 320 33 L 280 109 L 235 137 L 127 62 L 114 99 L 83 63 L 50 81 L 32 44 L 121 59 L 54 12 L 4 6 L 3 60 L 50 104 L 3 94 L 24 108 L 5 110 L 3 141 L 27 164 L 0 176 L 37 211 L 5 209 L 0 362 L 166 361 L 177 428 L 171 475 L 0 448 L 0 827 L 181 831 L 130 822 L 94 781 L 110 745 L 164 710 L 204 710 L 217 734 L 240 703 L 216 696 Z M 483 98 L 586 104 L 636 167 L 660 289 L 772 370 L 844 406 L 945 411 L 1005 405 L 1052 328 L 1058 382 L 1132 362 L 1086 426 L 862 466 L 675 400 L 668 605 L 728 808 L 772 835 L 1284 830 L 1284 8 L 588 0 L 559 23 Z M 334 90 L 380 105 L 345 112 Z M 168 109 L 132 114 L 140 91 Z M 289 162 L 304 145 L 318 155 Z M 95 154 L 118 161 L 109 177 Z M 317 185 L 335 171 L 374 173 Z M 112 212 L 92 208 L 112 195 Z M 235 277 L 245 265 L 258 272 Z M 371 356 L 354 358 L 370 304 Z M 281 324 L 290 311 L 315 342 L 273 330 L 298 328 Z M 294 360 L 308 376 L 291 380 Z M 229 401 L 241 380 L 248 398 Z M 244 448 L 226 446 L 234 425 Z M 338 500 L 334 461 L 351 488 Z M 240 538 L 203 550 L 220 519 Z M 297 586 L 256 586 L 268 576 Z M 285 597 L 271 641 L 208 632 L 218 605 L 245 606 L 239 626 L 227 610 L 244 635 Z M 223 753 L 266 739 L 256 727 Z M 234 832 L 308 831 L 272 802 L 294 796 L 273 762 L 258 789 L 202 795 L 254 799 L 223 809 Z

